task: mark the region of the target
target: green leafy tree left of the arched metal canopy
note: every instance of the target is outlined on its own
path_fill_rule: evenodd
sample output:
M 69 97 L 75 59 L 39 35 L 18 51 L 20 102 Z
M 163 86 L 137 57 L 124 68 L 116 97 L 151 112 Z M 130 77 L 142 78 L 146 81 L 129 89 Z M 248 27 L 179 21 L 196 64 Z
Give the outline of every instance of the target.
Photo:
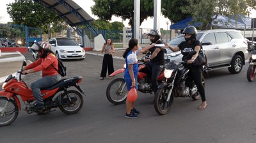
M 61 20 L 56 13 L 32 0 L 15 0 L 15 3 L 7 4 L 7 13 L 13 20 L 13 24 L 40 27 L 43 31 L 47 31 L 49 23 L 57 23 Z

